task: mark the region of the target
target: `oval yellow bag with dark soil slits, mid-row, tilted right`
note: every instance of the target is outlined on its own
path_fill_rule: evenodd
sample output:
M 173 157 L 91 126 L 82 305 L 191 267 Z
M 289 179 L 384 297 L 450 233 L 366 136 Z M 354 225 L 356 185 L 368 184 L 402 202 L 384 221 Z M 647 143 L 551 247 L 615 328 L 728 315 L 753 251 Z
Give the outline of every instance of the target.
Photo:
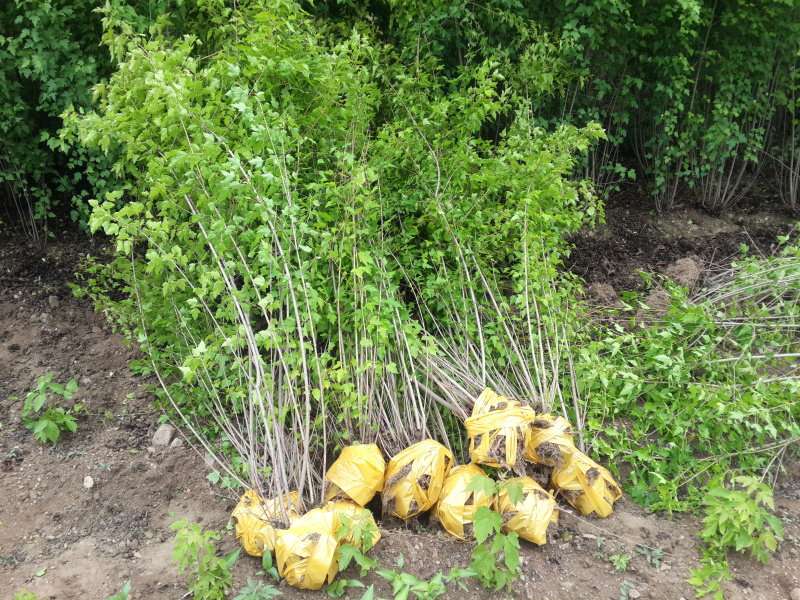
M 386 467 L 383 514 L 408 519 L 429 510 L 439 499 L 453 465 L 453 453 L 434 440 L 399 452 Z

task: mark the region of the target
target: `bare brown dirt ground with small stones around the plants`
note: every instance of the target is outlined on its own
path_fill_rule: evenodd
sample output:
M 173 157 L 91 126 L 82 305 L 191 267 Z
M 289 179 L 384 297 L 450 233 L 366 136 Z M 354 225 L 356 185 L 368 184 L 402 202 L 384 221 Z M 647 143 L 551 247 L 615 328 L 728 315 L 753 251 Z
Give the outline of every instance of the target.
M 641 291 L 636 269 L 663 273 L 687 256 L 708 266 L 737 254 L 740 242 L 768 251 L 775 235 L 791 229 L 788 218 L 758 210 L 729 217 L 712 219 L 686 209 L 659 220 L 647 210 L 612 204 L 611 225 L 575 236 L 573 262 L 566 266 L 616 292 Z M 134 599 L 187 597 L 171 560 L 168 526 L 187 518 L 224 530 L 236 498 L 205 479 L 209 468 L 188 445 L 148 451 L 160 416 L 148 391 L 153 381 L 131 374 L 128 365 L 137 351 L 67 286 L 87 252 L 100 248 L 71 233 L 59 235 L 44 257 L 19 239 L 0 239 L 0 598 L 26 588 L 40 599 L 104 600 L 127 580 Z M 56 308 L 50 297 L 58 299 Z M 43 313 L 52 321 L 43 322 Z M 49 372 L 61 383 L 78 380 L 75 401 L 85 412 L 77 433 L 42 445 L 22 427 L 20 410 L 26 392 Z M 90 490 L 83 487 L 87 475 L 94 480 Z M 776 512 L 786 535 L 771 564 L 731 557 L 729 600 L 787 599 L 800 587 L 799 479 L 798 465 L 787 465 L 776 485 Z M 492 593 L 470 582 L 468 591 L 451 584 L 447 597 L 616 599 L 624 580 L 634 586 L 631 598 L 694 597 L 685 579 L 687 569 L 698 565 L 699 520 L 649 515 L 625 498 L 614 508 L 606 520 L 562 513 L 547 545 L 523 542 L 524 576 L 510 592 Z M 470 562 L 472 545 L 441 533 L 383 529 L 382 534 L 371 552 L 384 568 L 392 568 L 402 554 L 404 569 L 425 579 Z M 605 545 L 598 554 L 601 540 Z M 224 535 L 221 551 L 235 547 L 233 536 Z M 641 547 L 665 553 L 659 569 L 637 551 Z M 626 572 L 616 571 L 608 559 L 621 554 L 631 557 Z M 234 590 L 259 566 L 258 559 L 243 555 L 234 566 Z M 358 573 L 350 569 L 343 576 Z M 376 584 L 376 597 L 391 597 L 377 575 L 364 581 Z M 327 597 L 286 585 L 280 589 L 289 599 Z

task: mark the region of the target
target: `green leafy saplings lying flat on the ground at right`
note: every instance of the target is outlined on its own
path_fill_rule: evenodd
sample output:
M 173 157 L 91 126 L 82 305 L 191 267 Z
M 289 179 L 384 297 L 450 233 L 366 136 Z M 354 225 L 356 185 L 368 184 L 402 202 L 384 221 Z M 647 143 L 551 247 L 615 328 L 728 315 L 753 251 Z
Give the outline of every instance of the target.
M 627 491 L 637 502 L 699 506 L 710 478 L 768 469 L 773 452 L 800 438 L 797 252 L 745 258 L 694 301 L 667 287 L 663 320 L 617 325 L 580 349 L 586 423 L 602 434 L 593 444 L 612 465 L 633 467 Z

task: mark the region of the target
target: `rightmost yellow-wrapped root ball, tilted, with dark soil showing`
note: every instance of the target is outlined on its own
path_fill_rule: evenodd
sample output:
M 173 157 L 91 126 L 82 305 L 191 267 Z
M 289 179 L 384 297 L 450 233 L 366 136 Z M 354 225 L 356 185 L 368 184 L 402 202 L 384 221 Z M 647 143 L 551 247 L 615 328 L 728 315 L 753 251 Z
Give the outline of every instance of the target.
M 552 483 L 567 502 L 584 515 L 594 511 L 605 518 L 613 512 L 612 505 L 622 496 L 611 473 L 579 450 L 562 468 L 553 471 Z

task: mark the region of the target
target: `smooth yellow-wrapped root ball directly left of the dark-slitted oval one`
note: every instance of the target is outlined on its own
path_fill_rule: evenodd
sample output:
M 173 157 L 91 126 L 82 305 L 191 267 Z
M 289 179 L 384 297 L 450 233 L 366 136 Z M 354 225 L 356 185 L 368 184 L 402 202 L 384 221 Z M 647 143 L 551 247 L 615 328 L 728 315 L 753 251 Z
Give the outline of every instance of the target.
M 325 501 L 347 497 L 365 506 L 383 489 L 386 461 L 375 444 L 347 446 L 325 474 Z

